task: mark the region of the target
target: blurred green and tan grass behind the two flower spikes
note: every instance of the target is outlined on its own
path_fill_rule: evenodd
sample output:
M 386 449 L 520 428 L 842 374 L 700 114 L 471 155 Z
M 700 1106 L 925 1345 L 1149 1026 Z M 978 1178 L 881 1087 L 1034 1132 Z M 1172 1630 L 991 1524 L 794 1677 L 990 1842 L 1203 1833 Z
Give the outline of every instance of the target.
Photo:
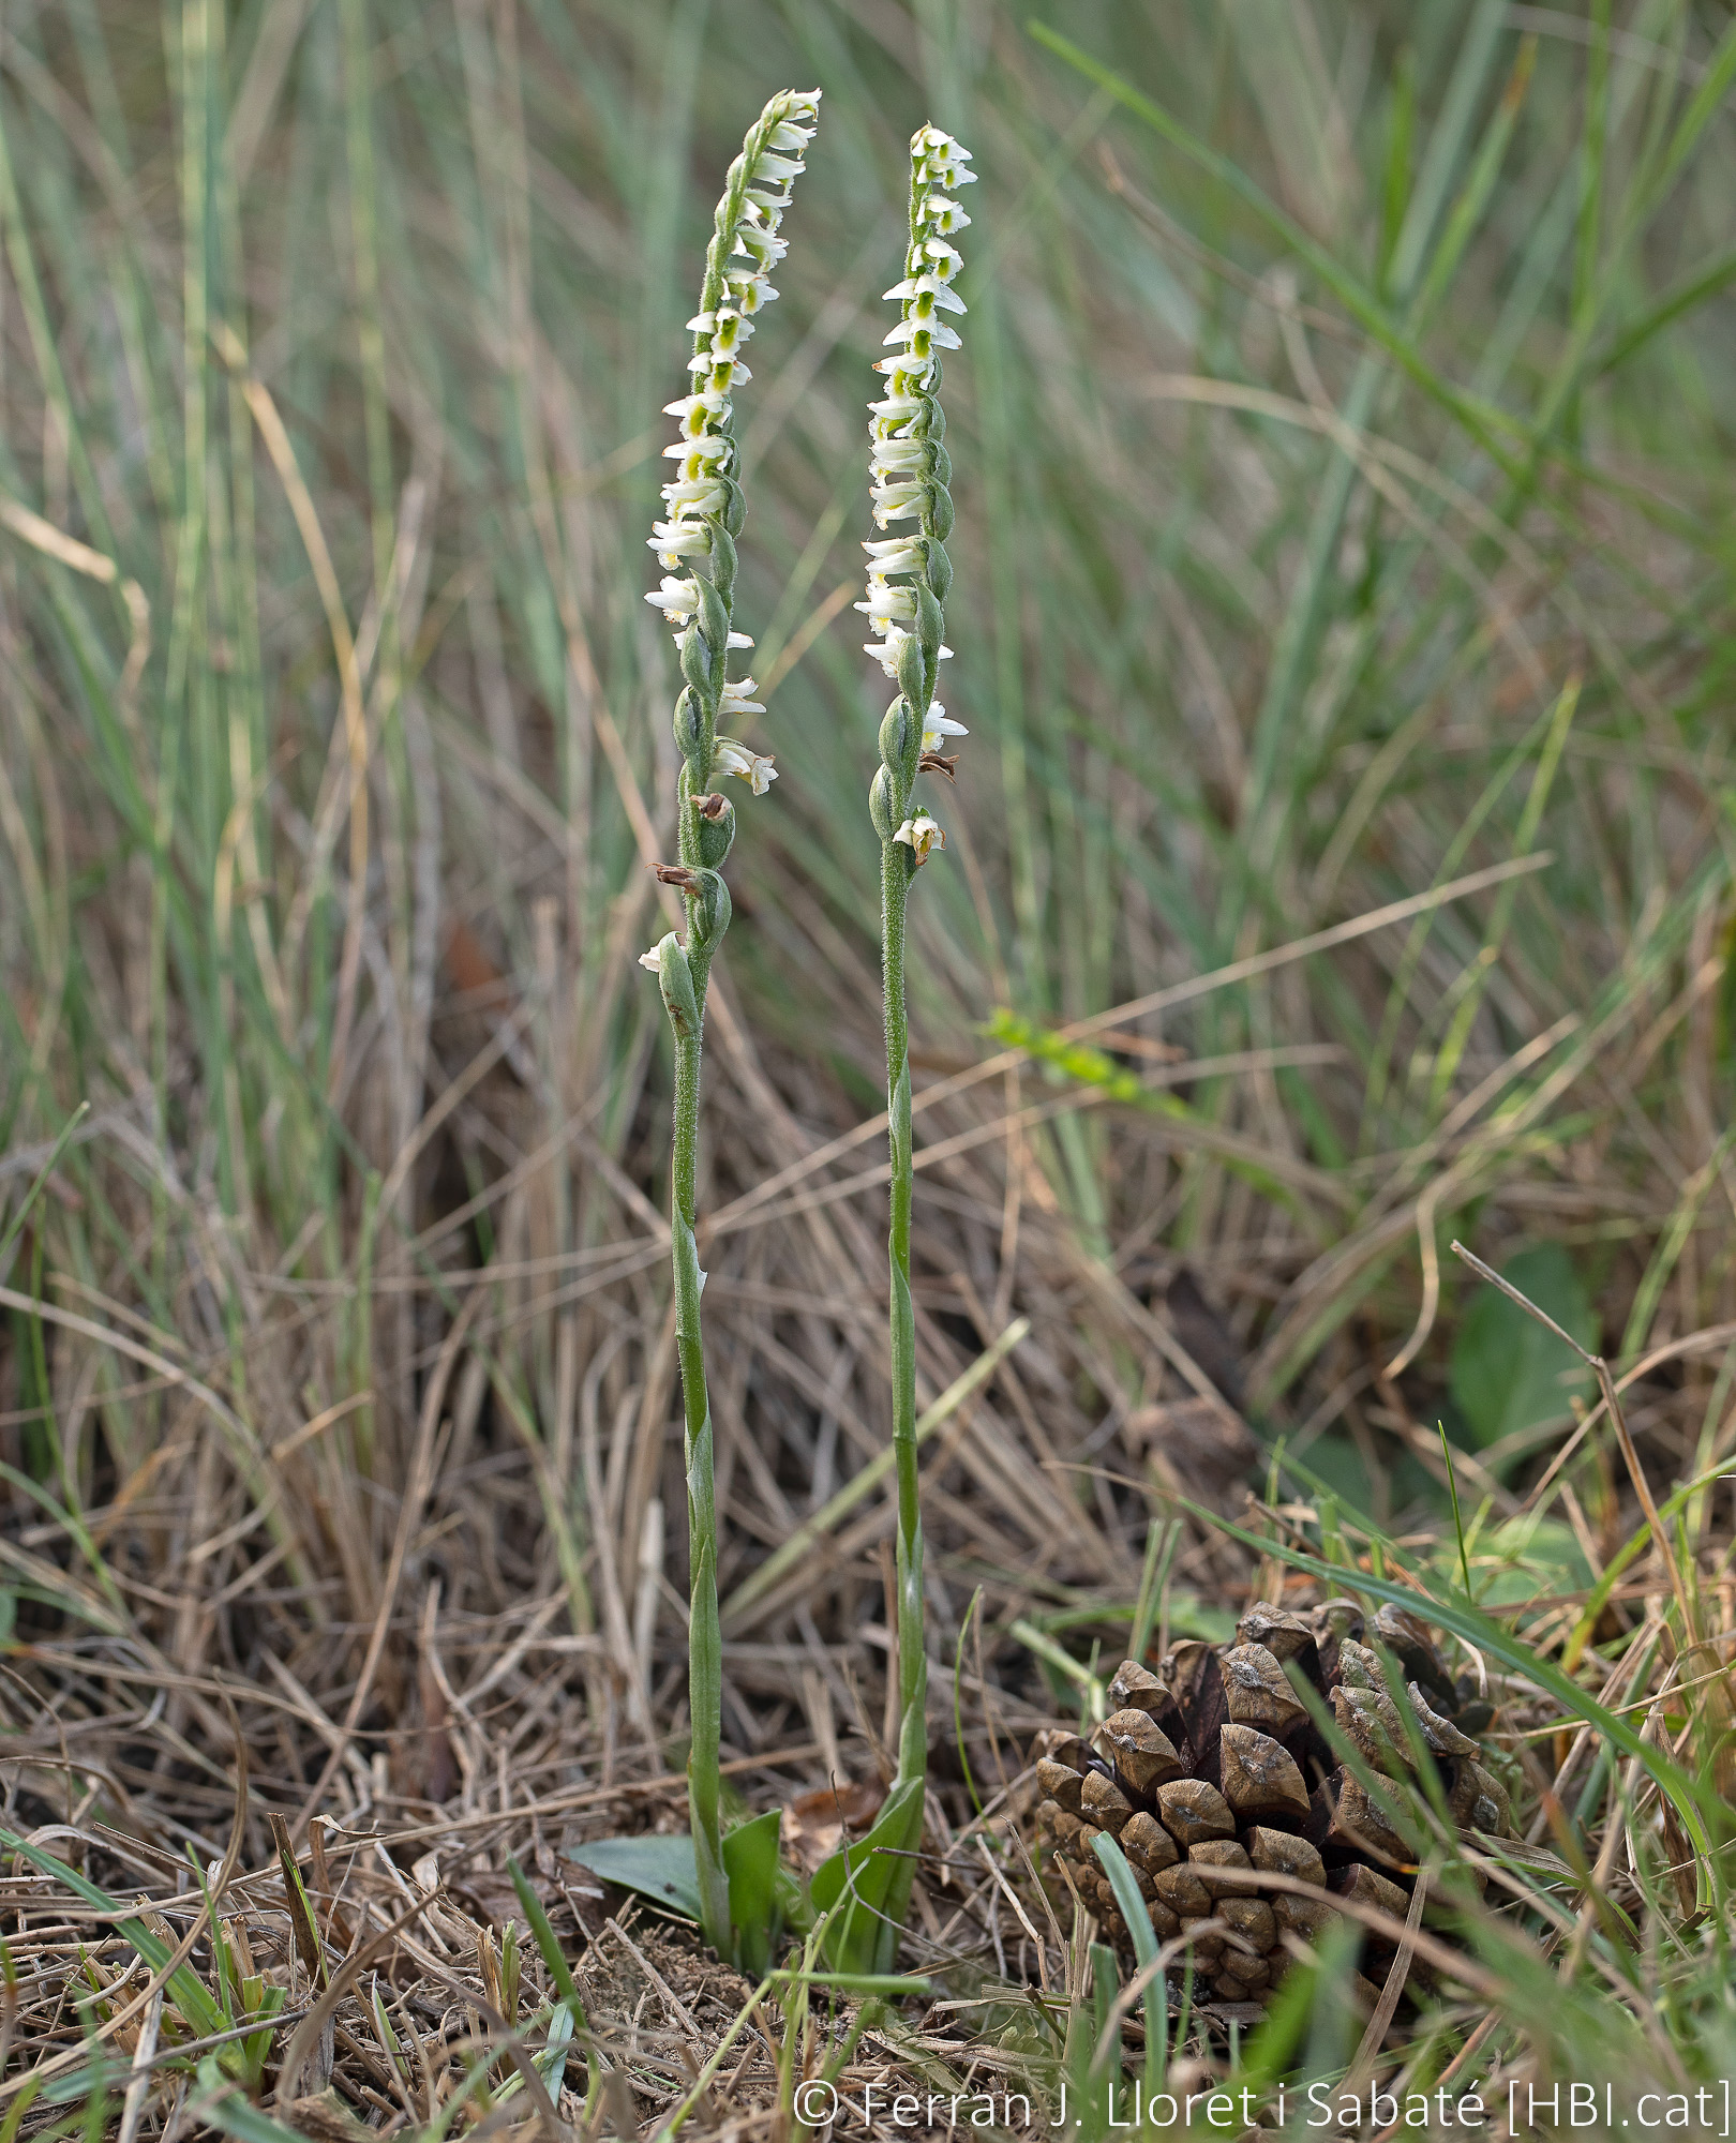
M 977 1582 L 1001 1627 L 1132 1599 L 1129 1474 L 1228 1487 L 1264 1436 L 1440 1515 L 1442 1417 L 1515 1509 L 1577 1393 L 1462 1320 L 1453 1234 L 1659 1357 L 1661 1479 L 1725 1455 L 1727 11 L 1035 19 L 1097 73 L 979 0 L 9 11 L 9 1597 L 21 1637 L 174 1667 L 195 1742 L 204 1674 L 274 1689 L 287 1804 L 454 1789 L 418 1755 L 457 1717 L 437 1612 L 499 1650 L 553 1603 L 609 1747 L 679 1727 L 643 536 L 709 204 L 782 84 L 825 103 L 737 405 L 780 780 L 731 864 L 701 1200 L 724 1590 L 883 1417 L 879 1149 L 829 1142 L 879 1106 L 849 602 L 924 118 L 982 176 L 947 371 L 971 744 L 915 902 L 926 1397 L 1035 1322 L 934 1459 L 947 1657 Z M 1556 1494 L 1584 1582 L 1597 1438 Z M 1691 1515 L 1710 1541 L 1715 1496 Z M 851 1717 L 883 1534 L 870 1500 L 754 1609 L 739 1747 Z M 559 1770 L 566 1684 L 525 1687 L 525 1774 Z M 197 1830 L 201 1764 L 107 1777 L 174 1777 Z

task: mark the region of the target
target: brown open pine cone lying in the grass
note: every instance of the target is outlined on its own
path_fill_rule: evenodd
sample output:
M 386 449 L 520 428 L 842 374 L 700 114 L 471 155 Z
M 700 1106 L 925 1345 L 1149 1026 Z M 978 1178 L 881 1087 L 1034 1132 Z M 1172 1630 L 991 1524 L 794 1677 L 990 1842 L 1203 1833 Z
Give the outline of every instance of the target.
M 1119 1839 L 1159 1942 L 1213 1922 L 1194 1963 L 1222 2002 L 1264 2002 L 1292 1952 L 1286 1929 L 1316 1939 L 1335 1918 L 1333 1899 L 1410 1909 L 1410 1847 L 1357 1777 L 1344 1770 L 1290 1687 L 1284 1663 L 1320 1691 L 1340 1732 L 1370 1768 L 1393 1781 L 1400 1807 L 1419 1794 L 1410 1738 L 1393 1704 L 1380 1654 L 1365 1646 L 1355 1601 L 1310 1614 L 1249 1607 L 1232 1646 L 1179 1644 L 1153 1674 L 1123 1661 L 1110 1682 L 1114 1710 L 1091 1747 L 1046 1734 L 1037 1751 L 1037 1832 L 1065 1903 L 1065 1864 L 1080 1899 L 1119 1948 L 1132 1942 L 1114 1892 L 1091 1849 L 1099 1830 Z M 1487 1725 L 1483 1704 L 1464 1704 L 1427 1627 L 1385 1605 L 1372 1637 L 1397 1661 L 1447 1807 L 1462 1830 L 1511 1837 L 1507 1787 L 1481 1762 L 1466 1727 Z M 1419 1802 L 1421 1804 L 1421 1802 Z M 1320 1892 L 1260 1894 L 1222 1871 L 1292 1875 Z M 1228 1933 L 1226 1933 L 1228 1931 Z M 1367 1937 L 1363 1965 L 1385 1980 L 1391 1946 Z M 1359 1980 L 1372 2006 L 1378 1989 Z

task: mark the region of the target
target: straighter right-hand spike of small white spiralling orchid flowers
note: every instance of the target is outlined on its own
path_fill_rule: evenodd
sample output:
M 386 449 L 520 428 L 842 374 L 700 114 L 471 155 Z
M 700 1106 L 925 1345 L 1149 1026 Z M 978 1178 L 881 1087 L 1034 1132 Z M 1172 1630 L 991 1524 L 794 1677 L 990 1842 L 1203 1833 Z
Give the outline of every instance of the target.
M 915 521 L 909 534 L 866 542 L 868 600 L 857 611 L 874 634 L 866 654 L 898 684 L 898 699 L 881 722 L 881 765 L 868 797 L 874 831 L 883 842 L 902 842 L 915 870 L 930 846 L 945 846 L 939 825 L 911 814 L 911 793 L 924 756 L 937 754 L 945 737 L 962 737 L 934 699 L 939 664 L 952 654 L 941 641 L 941 604 L 952 585 L 945 538 L 952 534 L 952 461 L 943 444 L 941 351 L 958 349 L 947 313 L 962 313 L 954 279 L 964 266 L 949 242 L 969 225 L 952 195 L 975 182 L 964 165 L 971 152 L 939 126 L 922 126 L 911 137 L 911 242 L 904 279 L 885 296 L 896 300 L 898 326 L 881 358 L 885 394 L 870 403 L 870 484 L 874 525 Z M 943 771 L 952 771 L 945 767 Z

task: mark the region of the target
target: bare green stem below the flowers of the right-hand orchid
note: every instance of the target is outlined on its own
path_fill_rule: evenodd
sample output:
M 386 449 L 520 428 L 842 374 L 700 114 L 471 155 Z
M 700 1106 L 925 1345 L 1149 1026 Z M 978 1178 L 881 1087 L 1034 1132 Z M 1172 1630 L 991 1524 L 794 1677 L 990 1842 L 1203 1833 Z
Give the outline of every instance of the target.
M 898 1785 L 928 1772 L 928 1648 L 922 1614 L 922 1496 L 915 1434 L 915 1309 L 911 1307 L 911 1022 L 904 999 L 904 909 L 913 857 L 881 842 L 881 969 L 885 984 L 885 1091 L 892 1149 L 892 1451 L 898 1472 Z M 915 1873 L 911 1869 L 911 1873 Z M 909 1879 L 894 1918 L 902 1920 Z

